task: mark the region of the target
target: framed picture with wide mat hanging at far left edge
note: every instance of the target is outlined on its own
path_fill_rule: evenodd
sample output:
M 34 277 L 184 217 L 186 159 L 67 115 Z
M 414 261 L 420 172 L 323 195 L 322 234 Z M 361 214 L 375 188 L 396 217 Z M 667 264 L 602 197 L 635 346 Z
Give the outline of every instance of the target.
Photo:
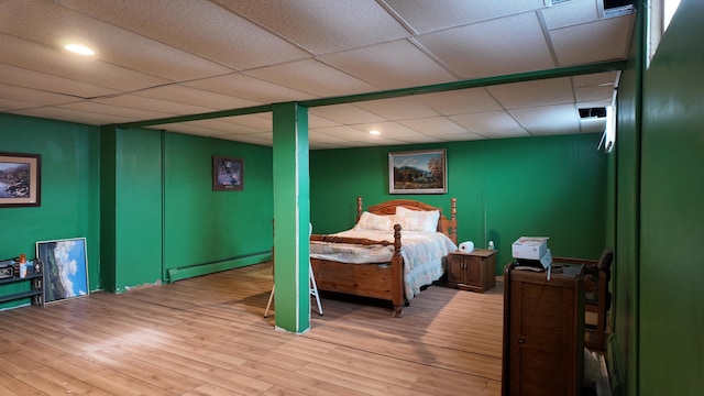
M 42 206 L 42 156 L 0 152 L 0 208 Z

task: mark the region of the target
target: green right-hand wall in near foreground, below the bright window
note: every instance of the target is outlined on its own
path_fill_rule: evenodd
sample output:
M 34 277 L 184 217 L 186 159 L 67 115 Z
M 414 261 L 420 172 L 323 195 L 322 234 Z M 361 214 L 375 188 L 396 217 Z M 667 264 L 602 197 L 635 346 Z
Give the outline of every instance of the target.
M 704 389 L 702 21 L 683 0 L 644 79 L 640 395 Z

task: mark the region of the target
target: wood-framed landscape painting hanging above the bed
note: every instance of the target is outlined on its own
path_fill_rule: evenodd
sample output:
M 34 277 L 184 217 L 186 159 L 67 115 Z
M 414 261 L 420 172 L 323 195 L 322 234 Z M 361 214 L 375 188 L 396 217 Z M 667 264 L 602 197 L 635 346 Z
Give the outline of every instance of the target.
M 419 150 L 388 153 L 389 194 L 447 194 L 447 151 Z

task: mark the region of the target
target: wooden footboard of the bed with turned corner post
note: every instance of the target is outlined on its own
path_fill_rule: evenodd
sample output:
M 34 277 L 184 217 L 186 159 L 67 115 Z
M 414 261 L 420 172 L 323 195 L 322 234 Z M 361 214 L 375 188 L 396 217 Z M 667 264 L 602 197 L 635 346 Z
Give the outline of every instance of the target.
M 319 290 L 344 293 L 392 301 L 394 316 L 400 317 L 405 300 L 404 260 L 400 255 L 400 226 L 394 226 L 394 242 L 372 241 L 333 235 L 310 237 L 311 241 L 353 243 L 361 245 L 394 245 L 389 263 L 345 264 L 329 260 L 310 258 Z

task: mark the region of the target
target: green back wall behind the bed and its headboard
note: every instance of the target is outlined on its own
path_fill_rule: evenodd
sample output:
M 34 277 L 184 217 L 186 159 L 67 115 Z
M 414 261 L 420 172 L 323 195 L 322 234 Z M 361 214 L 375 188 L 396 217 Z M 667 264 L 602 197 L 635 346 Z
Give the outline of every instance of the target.
M 606 241 L 607 156 L 601 134 L 312 151 L 311 220 L 317 233 L 351 228 L 356 197 L 366 205 L 418 199 L 449 212 L 458 199 L 458 237 L 498 250 L 496 273 L 521 235 L 550 237 L 553 255 L 597 258 Z M 388 153 L 446 147 L 447 195 L 389 195 Z

